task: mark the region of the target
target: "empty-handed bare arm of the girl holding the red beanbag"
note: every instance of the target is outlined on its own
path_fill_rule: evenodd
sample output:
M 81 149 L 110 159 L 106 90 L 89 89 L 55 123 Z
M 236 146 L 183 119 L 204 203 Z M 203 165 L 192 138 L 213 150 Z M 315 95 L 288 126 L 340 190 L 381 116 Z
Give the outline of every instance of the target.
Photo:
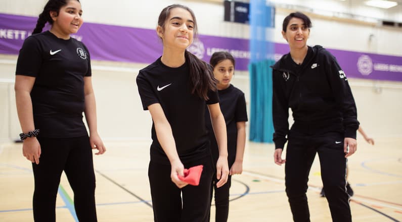
M 228 181 L 229 176 L 226 123 L 224 115 L 220 112 L 219 103 L 208 105 L 208 109 L 219 149 L 219 157 L 216 162 L 216 178 L 219 179 L 219 181 L 216 183 L 216 187 L 221 187 Z

